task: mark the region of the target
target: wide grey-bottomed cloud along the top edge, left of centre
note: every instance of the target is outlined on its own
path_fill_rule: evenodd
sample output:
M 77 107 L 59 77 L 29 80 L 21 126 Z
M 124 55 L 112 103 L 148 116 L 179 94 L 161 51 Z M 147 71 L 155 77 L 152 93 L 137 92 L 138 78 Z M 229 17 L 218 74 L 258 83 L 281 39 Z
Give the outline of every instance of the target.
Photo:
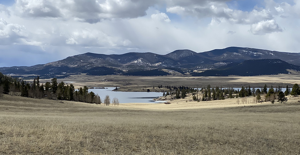
M 76 21 L 97 23 L 102 19 L 137 18 L 155 1 L 143 0 L 16 0 L 21 16 L 44 18 L 73 18 Z

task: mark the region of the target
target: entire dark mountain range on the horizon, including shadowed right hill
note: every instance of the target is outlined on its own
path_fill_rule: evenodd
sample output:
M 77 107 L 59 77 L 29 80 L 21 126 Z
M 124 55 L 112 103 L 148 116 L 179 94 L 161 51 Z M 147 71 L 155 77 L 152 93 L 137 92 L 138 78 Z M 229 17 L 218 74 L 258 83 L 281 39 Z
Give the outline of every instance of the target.
M 262 59 L 268 60 L 254 61 Z M 194 70 L 210 70 L 202 72 L 201 74 L 195 72 L 192 73 L 193 75 L 226 76 L 240 74 L 241 72 L 244 73 L 244 71 L 246 71 L 248 74 L 242 75 L 251 76 L 260 74 L 287 73 L 286 69 L 299 70 L 299 60 L 300 53 L 278 52 L 243 47 L 228 47 L 225 49 L 216 49 L 201 53 L 197 53 L 192 50 L 175 50 L 166 55 L 135 52 L 111 55 L 85 53 L 41 65 L 1 67 L 0 71 L 3 74 L 35 74 L 46 77 L 81 73 L 86 73 L 88 75 L 138 75 L 135 73 L 143 73 L 145 70 L 154 70 L 151 71 L 151 73 L 155 73 L 155 70 L 160 72 L 160 69 L 168 68 L 168 70 L 174 70 L 179 73 L 182 73 L 182 71 L 193 72 Z M 283 67 L 282 70 L 285 71 L 280 70 L 280 72 L 266 72 L 267 70 L 264 68 L 266 63 L 284 64 L 285 67 Z M 254 67 L 253 65 L 256 66 Z M 265 70 L 265 72 L 261 70 Z M 270 70 L 270 68 L 268 68 L 268 70 Z M 271 67 L 271 70 L 275 70 L 275 68 Z M 162 73 L 160 72 L 159 75 L 162 75 Z

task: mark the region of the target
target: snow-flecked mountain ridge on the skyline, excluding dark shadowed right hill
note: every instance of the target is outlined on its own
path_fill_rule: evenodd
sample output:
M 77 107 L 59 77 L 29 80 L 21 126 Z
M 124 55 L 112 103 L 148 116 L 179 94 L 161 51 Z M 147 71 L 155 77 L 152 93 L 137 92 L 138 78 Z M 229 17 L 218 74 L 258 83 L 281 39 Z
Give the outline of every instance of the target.
M 104 71 L 101 75 L 121 74 L 128 71 L 177 68 L 185 71 L 217 69 L 245 60 L 278 59 L 300 65 L 300 53 L 278 52 L 244 47 L 227 47 L 206 52 L 175 50 L 169 54 L 129 52 L 125 54 L 84 53 L 65 59 L 34 66 L 1 67 L 3 74 L 66 75 Z M 97 68 L 98 67 L 98 68 Z M 99 68 L 100 67 L 100 68 Z M 102 68 L 101 68 L 102 67 Z M 106 67 L 106 68 L 103 68 Z M 94 70 L 93 70 L 94 69 Z M 100 74 L 100 73 L 99 73 Z

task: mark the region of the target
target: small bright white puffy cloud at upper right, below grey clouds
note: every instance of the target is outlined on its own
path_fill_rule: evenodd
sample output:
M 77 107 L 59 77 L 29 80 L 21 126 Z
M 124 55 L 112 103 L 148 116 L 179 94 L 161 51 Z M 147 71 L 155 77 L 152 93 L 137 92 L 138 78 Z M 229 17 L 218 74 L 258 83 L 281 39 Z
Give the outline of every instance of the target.
M 276 21 L 272 19 L 252 24 L 250 31 L 252 34 L 263 35 L 273 32 L 282 32 L 282 29 Z

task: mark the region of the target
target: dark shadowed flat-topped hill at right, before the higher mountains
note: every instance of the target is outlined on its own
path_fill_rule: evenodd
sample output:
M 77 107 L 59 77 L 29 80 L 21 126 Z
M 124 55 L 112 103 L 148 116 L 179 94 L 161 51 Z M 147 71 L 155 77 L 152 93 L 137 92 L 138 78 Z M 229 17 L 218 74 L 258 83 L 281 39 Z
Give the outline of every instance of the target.
M 287 70 L 300 70 L 300 66 L 292 65 L 280 59 L 246 60 L 239 64 L 230 64 L 214 70 L 201 73 L 191 73 L 193 76 L 256 76 L 272 74 L 288 74 Z

